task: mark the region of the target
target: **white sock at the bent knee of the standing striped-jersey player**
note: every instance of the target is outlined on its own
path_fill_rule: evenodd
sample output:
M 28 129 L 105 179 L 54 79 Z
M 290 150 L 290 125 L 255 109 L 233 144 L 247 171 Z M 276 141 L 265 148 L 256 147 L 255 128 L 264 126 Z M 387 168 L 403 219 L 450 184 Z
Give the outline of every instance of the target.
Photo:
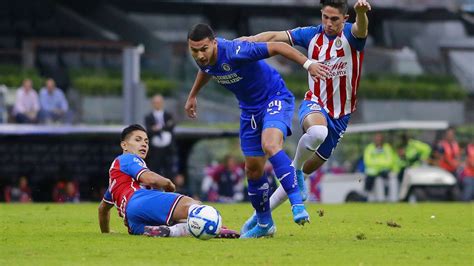
M 306 130 L 306 133 L 304 133 L 298 141 L 295 158 L 293 159 L 293 166 L 296 170 L 300 170 L 303 167 L 304 162 L 313 155 L 319 145 L 326 139 L 327 135 L 328 128 L 326 126 L 316 125 Z

